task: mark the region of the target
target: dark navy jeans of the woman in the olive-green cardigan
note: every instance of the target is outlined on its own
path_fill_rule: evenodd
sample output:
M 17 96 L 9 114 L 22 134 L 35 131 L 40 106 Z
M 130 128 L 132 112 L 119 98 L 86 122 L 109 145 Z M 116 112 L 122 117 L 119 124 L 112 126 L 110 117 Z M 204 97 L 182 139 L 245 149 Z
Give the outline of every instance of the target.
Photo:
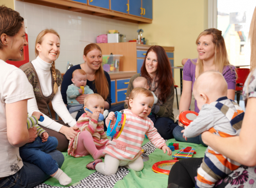
M 157 132 L 161 135 L 164 140 L 169 140 L 173 138 L 173 130 L 177 127 L 178 124 L 174 123 L 171 118 L 158 117 L 156 118 L 156 123 L 154 127 L 157 129 Z

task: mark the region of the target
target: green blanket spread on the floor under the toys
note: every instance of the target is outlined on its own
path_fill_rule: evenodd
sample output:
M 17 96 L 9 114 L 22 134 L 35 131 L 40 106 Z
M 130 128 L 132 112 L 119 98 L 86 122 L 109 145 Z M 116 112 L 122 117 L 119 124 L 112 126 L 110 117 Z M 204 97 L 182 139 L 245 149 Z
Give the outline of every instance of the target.
M 143 144 L 147 143 L 149 139 L 144 139 Z M 175 139 L 170 139 L 166 142 L 168 143 L 174 142 L 179 143 L 179 150 L 183 147 L 192 147 L 195 149 L 196 154 L 192 157 L 203 157 L 206 147 L 202 144 L 194 144 L 194 143 L 185 143 L 185 142 L 178 142 Z M 172 155 L 177 153 L 179 150 L 175 150 L 172 152 Z M 69 156 L 67 153 L 63 153 L 65 157 L 65 161 L 61 167 L 61 169 L 72 178 L 72 183 L 69 184 L 73 185 L 80 180 L 84 179 L 85 177 L 89 176 L 90 174 L 94 173 L 95 170 L 88 170 L 86 168 L 86 164 L 93 160 L 91 155 L 85 157 L 74 158 Z M 168 176 L 165 174 L 155 173 L 152 170 L 152 165 L 158 161 L 163 160 L 172 160 L 174 159 L 171 156 L 168 156 L 166 153 L 163 153 L 163 150 L 156 149 L 153 153 L 149 155 L 149 160 L 144 162 L 144 168 L 140 172 L 135 172 L 134 170 L 128 169 L 130 172 L 126 175 L 122 180 L 117 181 L 114 187 L 119 188 L 128 188 L 128 187 L 167 187 L 168 183 Z M 182 159 L 180 159 L 182 160 Z M 49 178 L 44 182 L 45 184 L 58 186 L 58 187 L 68 187 L 62 186 L 59 184 L 58 180 L 55 178 Z

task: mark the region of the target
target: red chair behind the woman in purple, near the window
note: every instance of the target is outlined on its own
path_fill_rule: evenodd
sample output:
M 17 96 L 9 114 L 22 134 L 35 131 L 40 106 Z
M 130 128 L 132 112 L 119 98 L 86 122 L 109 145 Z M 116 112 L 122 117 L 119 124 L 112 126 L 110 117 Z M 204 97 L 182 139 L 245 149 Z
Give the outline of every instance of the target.
M 237 104 L 239 104 L 240 95 L 243 91 L 244 82 L 250 73 L 250 69 L 249 68 L 237 68 L 236 73 L 237 73 L 238 78 L 236 80 L 235 93 L 236 93 Z

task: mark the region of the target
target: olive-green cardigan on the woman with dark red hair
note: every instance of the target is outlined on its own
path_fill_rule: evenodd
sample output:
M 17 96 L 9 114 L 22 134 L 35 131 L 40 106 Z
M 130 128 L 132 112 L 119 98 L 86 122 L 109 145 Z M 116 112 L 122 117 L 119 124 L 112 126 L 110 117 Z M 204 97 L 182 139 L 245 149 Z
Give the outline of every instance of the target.
M 140 76 L 140 73 L 137 73 L 131 77 L 131 79 L 129 81 L 128 88 L 127 88 L 126 97 L 129 97 L 131 91 L 133 90 L 132 83 L 133 83 L 134 79 L 139 76 Z M 156 115 L 158 115 L 159 117 L 169 117 L 174 121 L 174 114 L 173 114 L 173 109 L 172 109 L 173 100 L 174 100 L 174 85 L 172 85 L 170 95 L 167 97 L 165 103 L 163 103 L 162 106 L 159 106 L 160 110 Z M 126 108 L 126 109 L 128 108 L 128 105 L 126 103 L 124 104 L 124 108 Z

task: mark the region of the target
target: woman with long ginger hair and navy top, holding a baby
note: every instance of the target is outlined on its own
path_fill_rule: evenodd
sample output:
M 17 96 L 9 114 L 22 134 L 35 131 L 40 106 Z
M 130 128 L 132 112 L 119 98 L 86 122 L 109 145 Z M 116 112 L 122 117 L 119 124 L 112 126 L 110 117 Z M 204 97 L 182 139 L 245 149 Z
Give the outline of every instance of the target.
M 104 110 L 108 110 L 111 106 L 111 81 L 109 74 L 103 70 L 101 48 L 96 44 L 89 44 L 84 48 L 84 63 L 72 66 L 63 76 L 61 85 L 61 95 L 65 104 L 67 104 L 67 89 L 72 84 L 72 73 L 76 69 L 82 69 L 87 74 L 87 83 L 94 93 L 98 93 L 105 100 Z M 76 97 L 80 104 L 84 104 L 85 94 Z M 76 115 L 76 120 L 85 113 L 84 110 Z M 74 114 L 74 113 L 73 113 Z

